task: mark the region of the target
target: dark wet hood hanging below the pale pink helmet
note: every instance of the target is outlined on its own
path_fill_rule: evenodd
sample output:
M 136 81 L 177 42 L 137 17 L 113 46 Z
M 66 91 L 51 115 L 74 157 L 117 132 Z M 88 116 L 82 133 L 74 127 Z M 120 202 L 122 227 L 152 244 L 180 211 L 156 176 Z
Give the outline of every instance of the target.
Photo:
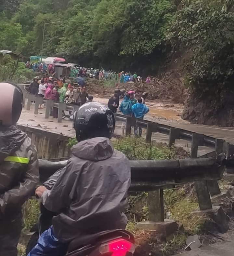
M 0 126 L 0 163 L 17 151 L 27 138 L 25 132 L 15 126 Z

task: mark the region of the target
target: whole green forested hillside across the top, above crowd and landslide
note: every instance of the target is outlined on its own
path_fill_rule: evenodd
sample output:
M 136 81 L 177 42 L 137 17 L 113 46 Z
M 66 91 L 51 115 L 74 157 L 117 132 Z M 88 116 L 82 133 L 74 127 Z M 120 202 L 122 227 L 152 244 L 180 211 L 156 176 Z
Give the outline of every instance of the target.
M 222 110 L 233 108 L 233 5 L 233 0 L 0 0 L 0 45 L 38 55 L 44 23 L 60 21 L 45 25 L 43 55 L 143 76 L 173 66 L 191 92 L 183 117 L 219 124 L 207 117 L 223 118 Z M 209 111 L 200 115 L 205 108 Z

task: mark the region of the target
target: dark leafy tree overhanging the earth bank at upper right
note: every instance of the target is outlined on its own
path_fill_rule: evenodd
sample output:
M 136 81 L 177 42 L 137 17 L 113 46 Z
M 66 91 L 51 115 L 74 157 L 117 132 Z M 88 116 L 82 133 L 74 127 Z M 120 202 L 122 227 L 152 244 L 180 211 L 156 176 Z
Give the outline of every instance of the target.
M 201 94 L 233 90 L 234 15 L 230 0 L 182 2 L 167 39 L 174 51 L 188 50 L 187 81 Z

